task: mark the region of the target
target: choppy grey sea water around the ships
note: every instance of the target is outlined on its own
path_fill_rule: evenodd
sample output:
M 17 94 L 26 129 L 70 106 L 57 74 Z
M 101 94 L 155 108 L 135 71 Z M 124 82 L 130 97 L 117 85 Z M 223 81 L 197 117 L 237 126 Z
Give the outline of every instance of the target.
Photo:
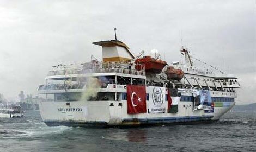
M 0 151 L 256 151 L 256 113 L 210 124 L 143 128 L 48 127 L 39 111 L 0 118 Z

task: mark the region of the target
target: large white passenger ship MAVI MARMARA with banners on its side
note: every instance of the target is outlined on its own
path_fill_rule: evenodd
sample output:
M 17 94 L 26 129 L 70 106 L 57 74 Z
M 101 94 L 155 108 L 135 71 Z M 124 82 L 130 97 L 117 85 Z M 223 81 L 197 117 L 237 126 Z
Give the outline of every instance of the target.
M 125 43 L 99 41 L 102 61 L 54 66 L 38 92 L 48 126 L 127 126 L 211 122 L 235 105 L 234 75 L 186 64 L 167 64 L 153 50 L 133 56 Z M 50 100 L 53 98 L 53 100 Z

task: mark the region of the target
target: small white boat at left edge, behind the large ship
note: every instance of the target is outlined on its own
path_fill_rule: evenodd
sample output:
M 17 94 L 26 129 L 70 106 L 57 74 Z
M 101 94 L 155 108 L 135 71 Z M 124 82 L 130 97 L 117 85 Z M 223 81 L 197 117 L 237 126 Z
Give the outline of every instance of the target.
M 0 117 L 20 118 L 23 117 L 23 111 L 20 105 L 0 104 Z

